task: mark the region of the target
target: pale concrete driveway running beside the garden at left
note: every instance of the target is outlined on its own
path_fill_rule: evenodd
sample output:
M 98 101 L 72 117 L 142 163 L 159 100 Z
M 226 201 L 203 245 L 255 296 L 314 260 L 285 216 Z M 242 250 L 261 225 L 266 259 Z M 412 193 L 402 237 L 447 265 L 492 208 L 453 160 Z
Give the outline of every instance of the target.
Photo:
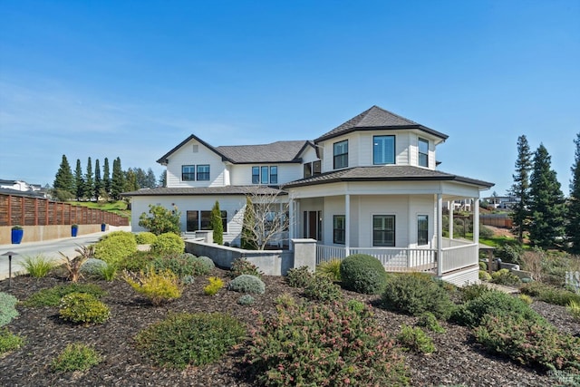
M 8 278 L 8 256 L 3 254 L 12 251 L 17 255 L 12 256 L 12 276 L 24 274 L 24 268 L 21 263 L 27 256 L 44 256 L 55 261 L 63 260 L 63 256 L 59 251 L 63 252 L 65 256 L 77 256 L 78 253 L 74 251 L 79 246 L 92 245 L 96 243 L 100 237 L 111 231 L 131 231 L 131 226 L 114 227 L 109 226 L 105 232 L 97 232 L 93 234 L 86 234 L 79 237 L 64 237 L 61 239 L 44 240 L 42 242 L 27 242 L 19 245 L 0 245 L 0 280 Z

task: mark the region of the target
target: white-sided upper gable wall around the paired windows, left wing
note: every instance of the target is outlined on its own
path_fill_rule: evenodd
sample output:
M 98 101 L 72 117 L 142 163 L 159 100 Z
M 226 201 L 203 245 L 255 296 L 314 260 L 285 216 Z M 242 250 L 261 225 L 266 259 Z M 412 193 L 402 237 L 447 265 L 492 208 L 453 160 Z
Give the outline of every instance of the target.
M 198 145 L 198 152 L 194 152 L 194 145 Z M 182 181 L 181 166 L 209 165 L 208 181 Z M 167 186 L 169 188 L 183 187 L 220 187 L 224 186 L 226 166 L 215 152 L 208 150 L 196 140 L 190 140 L 168 158 Z

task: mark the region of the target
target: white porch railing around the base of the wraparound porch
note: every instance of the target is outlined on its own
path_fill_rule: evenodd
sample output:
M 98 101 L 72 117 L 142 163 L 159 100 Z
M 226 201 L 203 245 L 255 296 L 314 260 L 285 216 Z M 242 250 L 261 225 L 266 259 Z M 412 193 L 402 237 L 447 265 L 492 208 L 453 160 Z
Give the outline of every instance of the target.
M 478 245 L 458 239 L 444 239 L 441 249 L 441 273 L 477 265 Z M 350 247 L 349 254 L 377 257 L 390 272 L 430 272 L 437 274 L 437 249 L 399 247 Z M 316 265 L 331 259 L 344 259 L 346 249 L 336 246 L 316 246 Z

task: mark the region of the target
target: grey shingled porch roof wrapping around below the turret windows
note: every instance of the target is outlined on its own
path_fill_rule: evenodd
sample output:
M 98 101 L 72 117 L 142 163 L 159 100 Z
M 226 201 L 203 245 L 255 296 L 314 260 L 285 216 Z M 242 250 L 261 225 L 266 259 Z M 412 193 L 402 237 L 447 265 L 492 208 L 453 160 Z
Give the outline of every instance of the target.
M 486 189 L 494 186 L 494 183 L 489 183 L 488 181 L 464 178 L 439 170 L 387 165 L 334 170 L 310 178 L 291 181 L 285 184 L 283 188 L 313 186 L 340 181 L 459 181 Z

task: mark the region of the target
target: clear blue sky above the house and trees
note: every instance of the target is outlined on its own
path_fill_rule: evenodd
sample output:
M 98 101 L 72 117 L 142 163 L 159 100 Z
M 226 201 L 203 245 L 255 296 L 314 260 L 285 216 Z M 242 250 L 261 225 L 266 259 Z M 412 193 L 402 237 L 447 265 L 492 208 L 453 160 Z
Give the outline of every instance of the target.
M 568 194 L 580 1 L 0 0 L 0 179 L 62 155 L 152 168 L 214 146 L 312 140 L 376 104 L 449 135 L 440 170 L 512 182 L 517 137 Z

